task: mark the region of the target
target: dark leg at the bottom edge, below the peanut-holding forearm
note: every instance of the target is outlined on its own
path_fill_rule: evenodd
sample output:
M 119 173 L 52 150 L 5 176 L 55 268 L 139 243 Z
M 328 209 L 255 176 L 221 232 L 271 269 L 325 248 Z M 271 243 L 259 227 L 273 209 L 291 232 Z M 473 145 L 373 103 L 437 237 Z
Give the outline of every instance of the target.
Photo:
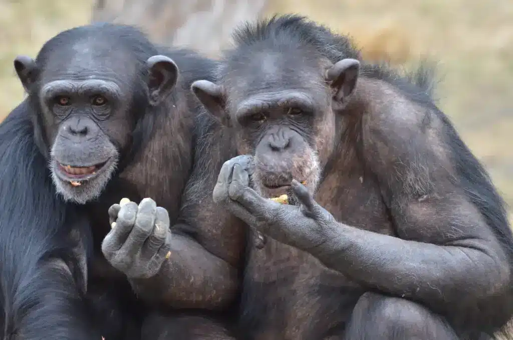
M 145 340 L 235 340 L 222 322 L 193 314 L 152 314 L 143 324 Z

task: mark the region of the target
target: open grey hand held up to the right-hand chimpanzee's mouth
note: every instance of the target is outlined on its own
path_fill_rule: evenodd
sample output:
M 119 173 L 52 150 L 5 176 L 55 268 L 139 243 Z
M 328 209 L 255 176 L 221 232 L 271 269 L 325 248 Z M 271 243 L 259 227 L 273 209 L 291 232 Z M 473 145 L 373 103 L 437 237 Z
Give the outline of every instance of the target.
M 263 198 L 249 186 L 251 156 L 225 162 L 213 191 L 215 202 L 255 230 L 292 247 L 310 251 L 328 240 L 338 223 L 296 180 L 291 186 L 299 206 Z

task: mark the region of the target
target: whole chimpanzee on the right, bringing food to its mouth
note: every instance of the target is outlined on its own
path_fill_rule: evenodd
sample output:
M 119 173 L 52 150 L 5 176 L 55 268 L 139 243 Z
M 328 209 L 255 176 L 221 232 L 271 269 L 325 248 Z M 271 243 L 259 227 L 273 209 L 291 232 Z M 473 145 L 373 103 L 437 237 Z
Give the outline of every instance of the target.
M 240 156 L 213 199 L 260 244 L 244 274 L 247 338 L 500 330 L 513 315 L 513 236 L 485 170 L 431 99 L 429 65 L 401 75 L 366 63 L 348 37 L 297 15 L 233 37 L 217 81 L 191 89 L 236 133 Z M 281 195 L 289 204 L 269 199 Z

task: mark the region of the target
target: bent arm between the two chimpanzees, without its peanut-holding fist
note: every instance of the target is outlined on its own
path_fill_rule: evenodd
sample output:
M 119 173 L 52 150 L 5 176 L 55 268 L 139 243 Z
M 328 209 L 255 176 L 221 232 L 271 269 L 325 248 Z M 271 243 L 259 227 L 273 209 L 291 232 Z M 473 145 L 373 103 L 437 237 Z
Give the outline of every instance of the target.
M 212 131 L 217 127 L 208 121 L 202 123 L 198 134 L 204 137 L 198 137 L 196 146 L 202 151 L 195 156 L 179 223 L 170 228 L 168 259 L 156 275 L 131 279 L 135 292 L 152 304 L 216 310 L 231 303 L 239 289 L 246 228 L 212 201 L 223 161 L 234 152 L 230 140 L 224 140 L 228 134 Z

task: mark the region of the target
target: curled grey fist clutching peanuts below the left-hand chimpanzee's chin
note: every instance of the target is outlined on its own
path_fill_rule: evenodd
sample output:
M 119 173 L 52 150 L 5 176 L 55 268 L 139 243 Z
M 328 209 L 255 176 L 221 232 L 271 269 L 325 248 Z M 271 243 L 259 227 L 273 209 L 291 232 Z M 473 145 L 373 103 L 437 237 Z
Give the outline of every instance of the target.
M 171 255 L 168 213 L 150 198 L 139 206 L 124 200 L 109 208 L 112 230 L 102 242 L 102 252 L 128 278 L 152 277 Z

